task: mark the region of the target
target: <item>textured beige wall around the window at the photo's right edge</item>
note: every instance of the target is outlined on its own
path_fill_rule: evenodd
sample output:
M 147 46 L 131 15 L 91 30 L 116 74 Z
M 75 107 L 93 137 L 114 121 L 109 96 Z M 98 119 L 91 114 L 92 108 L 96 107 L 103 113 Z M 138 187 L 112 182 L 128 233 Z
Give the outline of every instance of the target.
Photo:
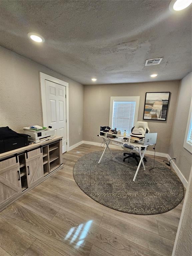
M 192 97 L 192 73 L 184 77 L 179 84 L 178 99 L 169 146 L 169 155 L 176 158 L 176 165 L 188 180 L 192 164 L 192 155 L 183 147 L 189 108 Z

